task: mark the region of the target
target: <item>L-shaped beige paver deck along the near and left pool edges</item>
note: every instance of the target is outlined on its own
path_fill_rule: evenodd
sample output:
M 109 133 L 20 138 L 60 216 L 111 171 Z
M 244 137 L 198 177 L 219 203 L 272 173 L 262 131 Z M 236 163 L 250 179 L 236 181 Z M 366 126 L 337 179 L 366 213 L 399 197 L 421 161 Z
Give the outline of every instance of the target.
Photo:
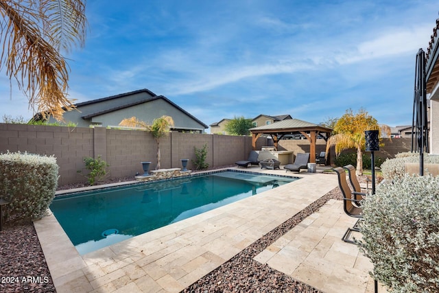
M 272 172 L 278 171 L 257 173 Z M 34 226 L 60 292 L 110 291 L 119 285 L 126 290 L 146 286 L 180 292 L 336 186 L 335 176 L 292 175 L 302 179 L 82 256 L 54 215 L 34 222 Z M 322 176 L 324 184 L 310 192 L 307 187 L 315 180 L 307 178 L 314 175 Z M 331 180 L 326 180 L 329 177 Z M 292 185 L 302 188 L 291 192 Z

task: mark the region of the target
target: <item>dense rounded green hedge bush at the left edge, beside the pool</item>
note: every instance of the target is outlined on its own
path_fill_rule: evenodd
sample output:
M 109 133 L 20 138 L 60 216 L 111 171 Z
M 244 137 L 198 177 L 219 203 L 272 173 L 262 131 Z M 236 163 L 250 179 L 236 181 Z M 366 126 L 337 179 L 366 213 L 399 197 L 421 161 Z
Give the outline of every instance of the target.
M 0 154 L 0 194 L 10 202 L 5 217 L 43 218 L 55 196 L 58 169 L 54 156 Z

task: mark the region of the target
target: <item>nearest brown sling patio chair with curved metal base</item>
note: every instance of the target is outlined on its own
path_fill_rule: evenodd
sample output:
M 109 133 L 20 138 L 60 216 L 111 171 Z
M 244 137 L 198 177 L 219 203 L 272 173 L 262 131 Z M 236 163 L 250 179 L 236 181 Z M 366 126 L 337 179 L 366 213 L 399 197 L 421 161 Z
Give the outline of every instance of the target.
M 343 209 L 346 215 L 358 218 L 358 221 L 355 223 L 355 225 L 351 228 L 349 227 L 346 230 L 346 233 L 344 233 L 342 240 L 344 242 L 348 243 L 355 243 L 351 239 L 349 239 L 349 236 L 351 235 L 352 231 L 359 231 L 358 224 L 361 218 L 363 218 L 363 215 L 361 213 L 363 212 L 363 209 L 361 209 L 360 206 L 360 200 L 357 200 L 353 198 L 353 194 L 351 189 L 349 188 L 348 182 L 346 181 L 346 172 L 342 167 L 336 167 L 333 169 L 335 173 L 337 173 L 338 176 L 338 186 L 340 187 L 340 190 L 343 194 Z

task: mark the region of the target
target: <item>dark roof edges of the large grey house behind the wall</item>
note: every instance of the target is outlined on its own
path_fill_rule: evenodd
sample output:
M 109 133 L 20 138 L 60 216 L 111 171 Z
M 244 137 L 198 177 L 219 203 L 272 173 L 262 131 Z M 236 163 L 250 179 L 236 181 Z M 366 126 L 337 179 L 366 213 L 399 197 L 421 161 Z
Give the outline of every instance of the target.
M 88 102 L 84 102 L 84 103 L 76 104 L 76 106 L 78 107 L 78 106 L 84 106 L 84 105 L 93 104 L 93 103 L 98 103 L 98 102 L 104 102 L 104 101 L 106 101 L 106 100 L 108 100 L 108 99 L 115 99 L 115 98 L 118 98 L 118 97 L 124 97 L 124 96 L 126 96 L 126 95 L 132 95 L 132 94 L 134 94 L 134 93 L 141 93 L 141 92 L 143 92 L 143 91 L 147 91 L 148 93 L 152 93 L 151 91 L 148 91 L 148 90 L 144 89 L 144 90 L 134 91 L 134 92 L 130 92 L 130 93 L 123 93 L 123 94 L 120 94 L 120 95 L 113 95 L 113 96 L 111 96 L 111 97 L 104 97 L 104 98 L 102 98 L 102 99 L 94 99 L 94 100 L 92 100 L 92 101 L 88 101 Z M 84 115 L 84 116 L 82 116 L 82 118 L 83 118 L 83 119 L 91 119 L 91 118 L 93 118 L 93 117 L 96 117 L 96 116 L 99 116 L 99 115 L 104 115 L 104 114 L 107 114 L 107 113 L 111 113 L 111 112 L 114 112 L 114 111 L 116 111 L 116 110 L 121 110 L 121 109 L 123 109 L 123 108 L 129 108 L 129 107 L 136 106 L 136 105 L 139 105 L 139 104 L 144 104 L 144 103 L 152 102 L 152 101 L 154 101 L 154 100 L 156 100 L 156 99 L 163 99 L 165 102 L 171 104 L 171 105 L 174 106 L 175 108 L 178 108 L 178 110 L 182 111 L 183 113 L 185 113 L 186 115 L 188 115 L 189 117 L 191 117 L 192 119 L 194 119 L 195 121 L 197 121 L 197 122 L 198 122 L 199 124 L 201 124 L 204 128 L 208 128 L 208 127 L 209 127 L 209 126 L 207 126 L 206 124 L 204 124 L 202 121 L 200 121 L 199 119 L 197 119 L 196 117 L 194 117 L 193 115 L 191 115 L 190 113 L 188 113 L 185 109 L 181 108 L 180 106 L 178 106 L 177 104 L 175 104 L 174 102 L 172 102 L 170 99 L 168 99 L 168 98 L 165 97 L 164 95 L 155 95 L 154 93 L 152 93 L 152 94 L 154 95 L 153 97 L 150 97 L 150 98 L 144 99 L 144 100 L 142 100 L 142 101 L 134 102 L 134 103 L 130 103 L 130 104 L 123 104 L 123 105 L 121 105 L 121 106 L 117 106 L 117 107 L 113 107 L 113 108 L 108 108 L 108 109 L 105 109 L 105 110 L 99 110 L 99 111 L 97 111 L 97 112 L 95 112 L 95 113 L 90 113 L 90 114 L 88 114 L 88 115 Z

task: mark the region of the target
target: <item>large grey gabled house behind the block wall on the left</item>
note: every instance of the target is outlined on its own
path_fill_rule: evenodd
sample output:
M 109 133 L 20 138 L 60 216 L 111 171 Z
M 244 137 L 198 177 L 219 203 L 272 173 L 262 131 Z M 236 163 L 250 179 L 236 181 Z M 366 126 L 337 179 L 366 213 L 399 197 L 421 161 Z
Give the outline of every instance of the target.
M 80 127 L 118 126 L 123 119 L 133 116 L 152 124 L 154 119 L 163 115 L 171 116 L 174 120 L 175 125 L 171 130 L 202 133 L 209 127 L 167 97 L 156 95 L 147 89 L 93 99 L 75 106 L 76 110 L 65 112 L 63 117 L 64 121 L 73 122 Z M 53 117 L 49 118 L 49 122 L 54 121 Z

